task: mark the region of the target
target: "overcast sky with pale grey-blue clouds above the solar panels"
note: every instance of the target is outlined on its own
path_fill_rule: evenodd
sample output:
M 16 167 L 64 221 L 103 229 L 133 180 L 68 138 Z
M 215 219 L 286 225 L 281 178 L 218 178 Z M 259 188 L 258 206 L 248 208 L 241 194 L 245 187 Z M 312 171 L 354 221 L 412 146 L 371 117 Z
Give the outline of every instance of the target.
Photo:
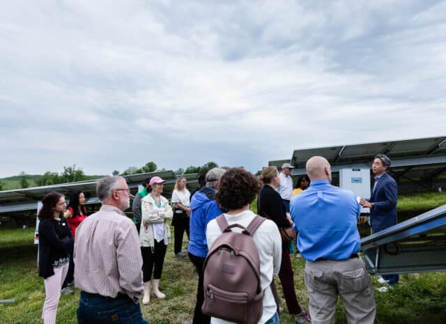
M 0 178 L 445 135 L 446 1 L 2 1 Z

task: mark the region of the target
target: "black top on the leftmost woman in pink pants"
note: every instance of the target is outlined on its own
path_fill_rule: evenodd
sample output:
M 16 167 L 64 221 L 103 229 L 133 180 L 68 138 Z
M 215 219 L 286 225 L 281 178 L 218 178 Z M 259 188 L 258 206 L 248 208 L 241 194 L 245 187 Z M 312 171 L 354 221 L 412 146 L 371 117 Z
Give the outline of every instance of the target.
M 39 222 L 39 276 L 51 277 L 53 267 L 68 262 L 73 240 L 70 226 L 61 215 L 61 220 L 42 219 Z

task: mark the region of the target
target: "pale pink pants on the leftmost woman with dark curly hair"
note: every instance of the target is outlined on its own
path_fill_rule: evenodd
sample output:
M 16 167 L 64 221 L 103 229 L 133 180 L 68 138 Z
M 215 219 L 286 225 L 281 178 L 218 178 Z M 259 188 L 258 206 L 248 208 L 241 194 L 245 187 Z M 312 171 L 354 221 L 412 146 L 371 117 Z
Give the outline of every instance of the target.
M 56 324 L 57 305 L 61 297 L 63 280 L 67 276 L 68 263 L 59 268 L 54 268 L 54 275 L 43 279 L 45 283 L 45 303 L 43 304 L 43 324 Z

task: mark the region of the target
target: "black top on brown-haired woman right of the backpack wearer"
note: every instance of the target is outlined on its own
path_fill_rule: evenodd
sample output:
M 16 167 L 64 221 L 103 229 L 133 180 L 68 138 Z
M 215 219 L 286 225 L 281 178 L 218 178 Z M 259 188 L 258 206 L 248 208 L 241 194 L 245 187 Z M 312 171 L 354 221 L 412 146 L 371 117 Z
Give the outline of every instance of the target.
M 259 192 L 257 213 L 271 219 L 279 229 L 291 227 L 289 220 L 286 218 L 286 209 L 282 202 L 282 197 L 270 185 L 263 185 Z

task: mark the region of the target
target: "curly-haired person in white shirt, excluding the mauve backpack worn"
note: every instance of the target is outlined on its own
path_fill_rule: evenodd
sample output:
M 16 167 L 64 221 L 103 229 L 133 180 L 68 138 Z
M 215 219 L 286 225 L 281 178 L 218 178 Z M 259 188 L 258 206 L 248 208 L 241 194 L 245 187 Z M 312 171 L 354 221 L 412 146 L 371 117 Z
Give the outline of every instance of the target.
M 229 225 L 240 224 L 246 228 L 252 219 L 257 217 L 249 210 L 249 206 L 256 198 L 260 187 L 259 180 L 243 168 L 229 169 L 223 174 L 215 199 L 224 210 L 229 210 L 223 214 Z M 233 231 L 238 230 L 241 231 L 241 229 L 233 229 Z M 221 234 L 222 231 L 217 221 L 215 219 L 210 221 L 206 230 L 209 248 Z M 254 232 L 252 239 L 259 251 L 261 287 L 265 291 L 263 313 L 258 323 L 279 323 L 277 305 L 270 287 L 272 276 L 277 275 L 280 268 L 282 240 L 279 229 L 274 222 L 266 219 Z M 211 323 L 226 324 L 229 322 L 220 318 L 212 318 Z

